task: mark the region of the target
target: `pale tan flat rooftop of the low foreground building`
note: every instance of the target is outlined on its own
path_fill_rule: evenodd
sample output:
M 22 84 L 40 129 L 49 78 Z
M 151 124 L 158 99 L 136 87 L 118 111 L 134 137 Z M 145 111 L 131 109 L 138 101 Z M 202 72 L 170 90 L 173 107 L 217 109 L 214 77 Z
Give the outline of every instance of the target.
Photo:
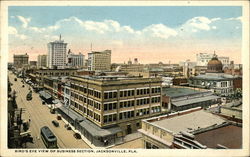
M 181 131 L 193 132 L 198 128 L 207 128 L 224 122 L 226 121 L 219 116 L 204 110 L 198 110 L 190 113 L 175 115 L 170 118 L 166 117 L 165 119 L 154 121 L 152 123 L 177 134 Z

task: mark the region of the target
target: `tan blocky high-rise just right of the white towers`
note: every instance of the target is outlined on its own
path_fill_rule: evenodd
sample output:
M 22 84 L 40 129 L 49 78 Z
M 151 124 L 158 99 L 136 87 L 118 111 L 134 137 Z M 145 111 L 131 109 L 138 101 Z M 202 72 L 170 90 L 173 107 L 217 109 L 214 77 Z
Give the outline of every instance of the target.
M 111 69 L 111 50 L 101 52 L 92 51 L 88 53 L 88 70 L 91 71 L 110 71 Z

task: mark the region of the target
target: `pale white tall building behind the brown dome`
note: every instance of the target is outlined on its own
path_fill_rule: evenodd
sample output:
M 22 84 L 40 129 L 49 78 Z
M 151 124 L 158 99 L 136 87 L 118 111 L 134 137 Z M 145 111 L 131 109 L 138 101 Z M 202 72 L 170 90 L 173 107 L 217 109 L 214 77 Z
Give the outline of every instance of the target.
M 208 62 L 213 58 L 212 53 L 199 53 L 196 54 L 197 66 L 207 66 Z M 230 64 L 229 57 L 220 56 L 218 59 L 221 61 L 223 66 Z

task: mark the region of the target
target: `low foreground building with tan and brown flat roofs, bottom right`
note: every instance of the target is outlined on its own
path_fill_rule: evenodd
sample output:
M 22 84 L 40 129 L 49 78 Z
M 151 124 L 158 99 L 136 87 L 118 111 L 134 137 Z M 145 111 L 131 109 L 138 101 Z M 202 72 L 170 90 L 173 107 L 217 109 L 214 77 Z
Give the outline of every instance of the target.
M 139 132 L 146 149 L 242 148 L 241 124 L 201 108 L 143 120 Z

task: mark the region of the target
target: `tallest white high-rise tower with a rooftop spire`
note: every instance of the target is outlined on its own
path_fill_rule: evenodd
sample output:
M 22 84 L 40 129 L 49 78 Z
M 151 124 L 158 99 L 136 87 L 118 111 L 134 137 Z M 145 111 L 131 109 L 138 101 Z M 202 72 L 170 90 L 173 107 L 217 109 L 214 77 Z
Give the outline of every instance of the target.
M 66 65 L 67 57 L 67 43 L 61 40 L 61 35 L 59 40 L 48 43 L 48 60 L 47 65 L 49 68 L 62 69 Z

